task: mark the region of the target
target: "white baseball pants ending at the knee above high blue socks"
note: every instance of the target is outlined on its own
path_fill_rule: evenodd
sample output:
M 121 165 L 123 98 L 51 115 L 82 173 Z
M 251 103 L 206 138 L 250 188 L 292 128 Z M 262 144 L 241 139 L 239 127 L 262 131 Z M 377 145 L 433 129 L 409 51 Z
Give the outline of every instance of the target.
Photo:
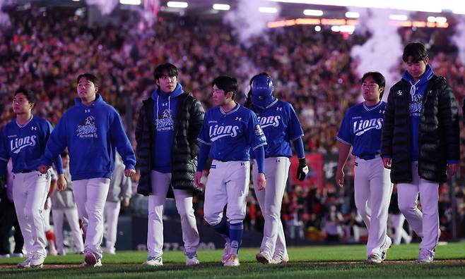
M 249 194 L 250 162 L 213 160 L 205 186 L 204 219 L 216 225 L 223 219 L 223 209 L 231 224 L 245 219 Z

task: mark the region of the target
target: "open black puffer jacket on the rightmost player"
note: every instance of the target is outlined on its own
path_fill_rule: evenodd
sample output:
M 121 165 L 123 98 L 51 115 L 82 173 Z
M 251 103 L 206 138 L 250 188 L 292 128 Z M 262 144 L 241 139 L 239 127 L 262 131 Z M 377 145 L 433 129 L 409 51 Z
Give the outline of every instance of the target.
M 411 130 L 408 95 L 411 85 L 397 82 L 389 91 L 382 131 L 382 156 L 391 156 L 393 183 L 411 182 Z M 423 97 L 418 127 L 418 175 L 447 181 L 447 160 L 459 160 L 459 114 L 452 88 L 434 75 Z

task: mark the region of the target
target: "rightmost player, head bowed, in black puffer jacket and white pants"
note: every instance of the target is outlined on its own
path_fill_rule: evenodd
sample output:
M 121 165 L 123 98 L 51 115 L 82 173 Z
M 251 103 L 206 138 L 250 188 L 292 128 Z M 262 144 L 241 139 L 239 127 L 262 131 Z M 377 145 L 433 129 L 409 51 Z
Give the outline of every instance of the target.
M 459 113 L 452 88 L 432 72 L 423 44 L 407 44 L 402 60 L 406 71 L 387 98 L 382 156 L 397 184 L 399 209 L 422 239 L 418 261 L 430 263 L 440 233 L 439 185 L 457 172 L 460 159 Z

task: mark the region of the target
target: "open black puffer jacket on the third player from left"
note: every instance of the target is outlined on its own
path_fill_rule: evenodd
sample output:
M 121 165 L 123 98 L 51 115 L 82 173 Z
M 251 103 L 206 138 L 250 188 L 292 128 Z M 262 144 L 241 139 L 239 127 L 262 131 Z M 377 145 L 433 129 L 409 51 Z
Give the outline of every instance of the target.
M 151 170 L 153 142 L 155 131 L 153 125 L 153 106 L 151 97 L 143 101 L 136 125 L 137 168 L 141 172 L 137 192 L 148 196 L 152 192 Z M 204 108 L 194 99 L 192 94 L 183 93 L 177 97 L 175 137 L 172 145 L 171 185 L 175 189 L 198 189 L 194 185 L 194 174 L 197 167 L 200 143 L 197 141 L 204 124 Z M 169 192 L 169 196 L 170 196 Z

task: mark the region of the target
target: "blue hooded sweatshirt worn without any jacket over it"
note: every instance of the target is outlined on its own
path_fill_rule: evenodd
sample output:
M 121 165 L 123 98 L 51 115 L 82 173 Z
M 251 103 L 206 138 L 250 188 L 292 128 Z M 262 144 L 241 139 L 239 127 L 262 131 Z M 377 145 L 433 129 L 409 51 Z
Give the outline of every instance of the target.
M 71 180 L 112 178 L 115 149 L 126 169 L 135 169 L 136 156 L 124 132 L 119 113 L 97 94 L 90 106 L 81 98 L 66 111 L 49 137 L 41 162 L 52 159 L 68 147 Z

